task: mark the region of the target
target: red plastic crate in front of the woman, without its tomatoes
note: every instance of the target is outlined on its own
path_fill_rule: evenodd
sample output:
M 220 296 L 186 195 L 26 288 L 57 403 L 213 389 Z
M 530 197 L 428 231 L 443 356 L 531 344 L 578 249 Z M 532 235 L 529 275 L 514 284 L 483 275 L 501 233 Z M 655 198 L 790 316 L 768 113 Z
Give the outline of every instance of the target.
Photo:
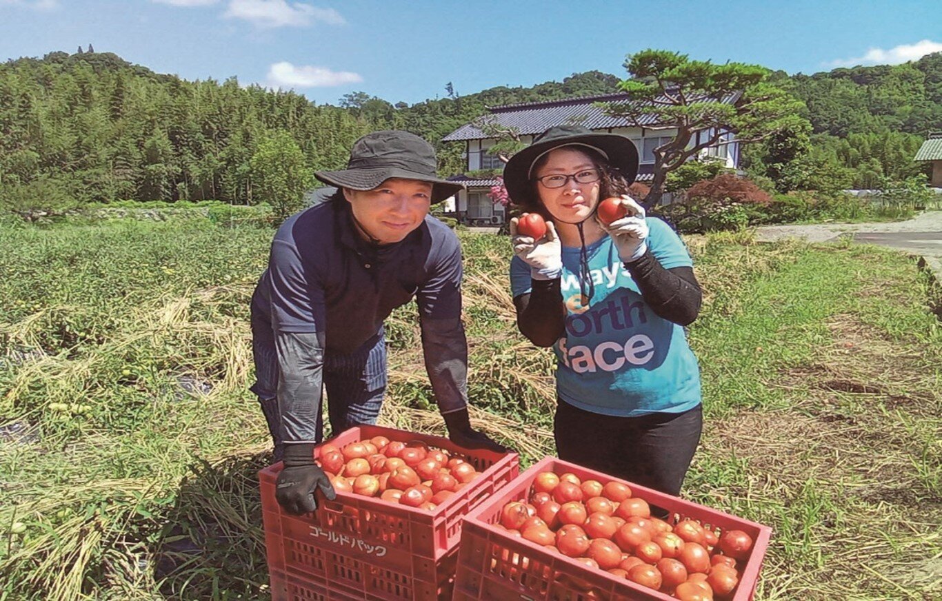
M 617 480 L 631 487 L 632 496 L 670 512 L 668 522 L 690 518 L 706 528 L 739 529 L 753 537 L 753 551 L 740 570 L 733 601 L 752 599 L 762 560 L 769 546 L 771 528 L 718 512 L 703 505 L 665 495 L 601 472 L 547 457 L 482 503 L 464 518 L 455 577 L 455 601 L 469 599 L 530 599 L 576 601 L 582 599 L 661 599 L 676 601 L 626 578 L 592 569 L 555 550 L 514 537 L 495 524 L 500 511 L 510 501 L 527 500 L 533 479 L 540 472 L 572 472 L 579 479 L 596 479 L 603 484 Z

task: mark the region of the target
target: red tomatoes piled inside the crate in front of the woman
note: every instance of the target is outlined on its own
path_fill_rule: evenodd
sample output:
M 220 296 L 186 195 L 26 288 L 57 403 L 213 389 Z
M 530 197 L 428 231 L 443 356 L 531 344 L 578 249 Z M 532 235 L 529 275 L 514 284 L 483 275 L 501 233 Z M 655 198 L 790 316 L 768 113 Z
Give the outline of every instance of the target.
M 504 505 L 498 523 L 514 536 L 684 601 L 731 596 L 753 546 L 741 530 L 718 534 L 690 519 L 671 526 L 652 517 L 626 484 L 581 481 L 571 473 L 538 474 L 529 502 Z

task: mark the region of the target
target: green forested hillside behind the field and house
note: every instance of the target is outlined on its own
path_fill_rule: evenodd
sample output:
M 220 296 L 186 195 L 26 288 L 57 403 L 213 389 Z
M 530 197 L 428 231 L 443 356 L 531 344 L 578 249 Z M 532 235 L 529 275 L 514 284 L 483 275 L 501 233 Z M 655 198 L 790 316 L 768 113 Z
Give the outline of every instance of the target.
M 366 132 L 407 129 L 436 143 L 441 171 L 452 174 L 462 171 L 463 149 L 439 140 L 486 106 L 607 93 L 618 80 L 577 73 L 561 83 L 468 94 L 442 82 L 446 97 L 412 106 L 364 93 L 317 106 L 294 92 L 243 88 L 235 78 L 189 82 L 153 73 L 110 53 L 20 58 L 0 64 L 0 197 L 255 203 L 253 170 L 265 166 L 252 164 L 252 155 L 278 131 L 290 134 L 309 166 L 334 169 Z M 758 175 L 788 171 L 783 161 L 794 167 L 778 177 L 782 188 L 820 186 L 808 173 L 844 187 L 904 179 L 921 169 L 911 161 L 921 139 L 942 129 L 942 54 L 897 66 L 773 73 L 772 80 L 804 100 L 810 122 L 794 139 L 749 154 Z

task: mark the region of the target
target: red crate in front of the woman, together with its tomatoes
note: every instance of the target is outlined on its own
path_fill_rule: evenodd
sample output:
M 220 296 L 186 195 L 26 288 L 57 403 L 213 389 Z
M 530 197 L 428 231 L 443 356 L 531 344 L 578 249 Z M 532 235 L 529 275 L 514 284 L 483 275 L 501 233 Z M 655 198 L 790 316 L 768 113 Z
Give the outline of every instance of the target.
M 651 514 L 652 506 L 668 512 Z M 545 458 L 468 514 L 454 599 L 751 599 L 771 528 Z

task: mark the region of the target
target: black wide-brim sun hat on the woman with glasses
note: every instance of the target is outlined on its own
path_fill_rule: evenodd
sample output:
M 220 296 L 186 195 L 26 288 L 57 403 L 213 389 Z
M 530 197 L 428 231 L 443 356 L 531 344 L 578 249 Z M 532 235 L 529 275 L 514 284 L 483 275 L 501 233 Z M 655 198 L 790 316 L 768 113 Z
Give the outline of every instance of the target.
M 575 149 L 589 147 L 602 154 L 609 165 L 631 184 L 638 176 L 638 148 L 634 142 L 619 134 L 600 134 L 582 125 L 550 127 L 527 148 L 514 154 L 504 167 L 504 186 L 515 204 L 537 203 L 533 198 L 530 169 L 541 156 L 560 146 L 574 145 Z

